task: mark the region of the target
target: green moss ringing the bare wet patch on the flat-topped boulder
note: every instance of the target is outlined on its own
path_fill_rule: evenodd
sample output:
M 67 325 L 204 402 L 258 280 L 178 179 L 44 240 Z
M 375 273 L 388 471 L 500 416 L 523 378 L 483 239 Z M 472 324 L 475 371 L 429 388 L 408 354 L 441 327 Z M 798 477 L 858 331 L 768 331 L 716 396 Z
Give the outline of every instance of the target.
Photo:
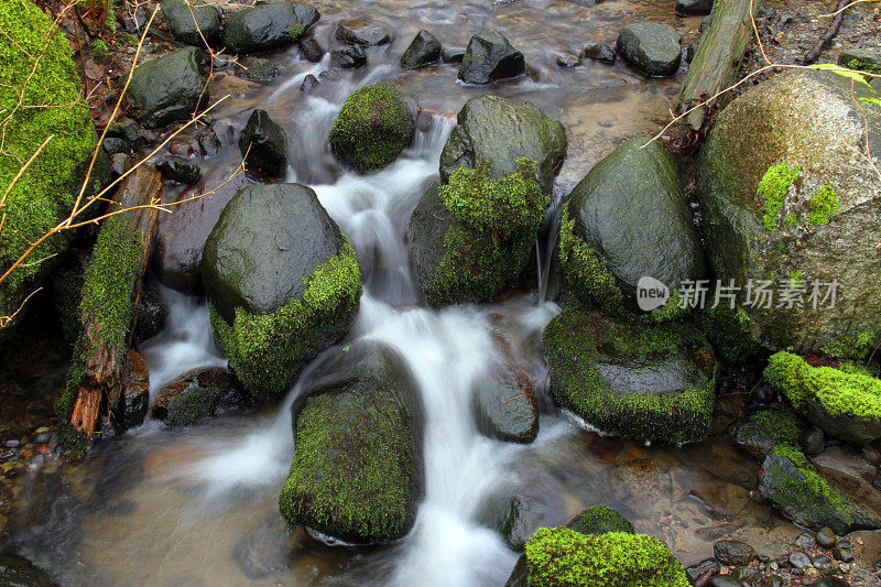
M 686 325 L 648 327 L 574 308 L 554 318 L 543 338 L 554 399 L 591 425 L 630 438 L 672 444 L 701 441 L 709 433 L 715 359 L 699 333 Z M 676 393 L 616 393 L 594 367 L 599 357 L 631 366 L 631 360 L 681 350 L 704 371 L 704 383 Z

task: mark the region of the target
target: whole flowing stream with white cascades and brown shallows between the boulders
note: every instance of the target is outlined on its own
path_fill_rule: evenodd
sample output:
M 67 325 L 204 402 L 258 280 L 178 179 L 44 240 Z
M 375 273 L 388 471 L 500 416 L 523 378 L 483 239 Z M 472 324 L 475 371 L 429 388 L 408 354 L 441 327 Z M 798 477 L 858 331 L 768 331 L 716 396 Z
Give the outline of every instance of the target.
M 382 548 L 329 546 L 278 512 L 291 464 L 291 405 L 308 387 L 306 368 L 281 405 L 167 428 L 148 417 L 140 428 L 102 445 L 73 470 L 44 471 L 31 483 L 17 517 L 20 552 L 53 569 L 65 584 L 86 585 L 502 585 L 518 554 L 479 523 L 493 496 L 521 496 L 545 524 L 567 521 L 587 506 L 609 503 L 638 531 L 667 541 L 686 564 L 711 544 L 740 532 L 760 550 L 791 539 L 751 500 L 754 464 L 736 454 L 726 435 L 686 449 L 641 446 L 579 428 L 551 404 L 540 335 L 557 307 L 551 251 L 556 216 L 548 214 L 536 242 L 535 291 L 482 306 L 439 312 L 420 306 L 403 231 L 421 187 L 437 174 L 455 112 L 471 96 L 496 91 L 529 99 L 567 129 L 569 155 L 555 205 L 617 143 L 656 130 L 677 80 L 646 81 L 623 65 L 553 64 L 554 51 L 577 52 L 587 41 L 611 41 L 626 23 L 645 18 L 687 32 L 694 20 L 672 18 L 662 2 L 563 1 L 328 2 L 317 36 L 331 47 L 340 15 L 368 14 L 398 33 L 391 46 L 369 50 L 367 68 L 323 79 L 309 94 L 300 86 L 327 64 L 309 64 L 291 50 L 273 59 L 276 79 L 264 86 L 221 72 L 214 96 L 232 99 L 216 113 L 226 149 L 203 163 L 210 182 L 236 165 L 236 137 L 251 109 L 263 108 L 291 137 L 289 181 L 311 185 L 358 252 L 365 295 L 341 345 L 383 341 L 405 358 L 425 406 L 425 497 L 415 528 Z M 672 2 L 670 2 L 672 4 Z M 395 61 L 421 29 L 447 45 L 464 46 L 482 26 L 498 26 L 527 56 L 529 76 L 494 88 L 456 84 L 454 66 L 401 72 Z M 356 87 L 398 79 L 424 109 L 417 137 L 381 173 L 355 175 L 329 155 L 326 137 Z M 142 346 L 151 395 L 194 367 L 224 365 L 203 302 L 163 290 L 171 308 L 165 331 Z M 478 434 L 470 413 L 475 378 L 501 358 L 501 344 L 527 367 L 542 403 L 541 432 L 531 445 Z M 329 351 L 333 352 L 333 349 Z M 322 358 L 316 362 L 320 362 Z M 724 407 L 722 407 L 724 411 Z M 721 432 L 721 431 L 719 431 Z M 721 464 L 721 465 L 720 465 Z

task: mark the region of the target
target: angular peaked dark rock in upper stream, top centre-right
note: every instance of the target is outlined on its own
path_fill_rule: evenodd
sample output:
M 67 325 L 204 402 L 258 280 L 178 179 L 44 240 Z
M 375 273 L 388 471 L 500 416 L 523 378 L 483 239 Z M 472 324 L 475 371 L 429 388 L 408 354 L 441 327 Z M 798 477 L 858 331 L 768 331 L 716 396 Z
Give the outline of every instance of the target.
M 492 84 L 516 77 L 526 70 L 523 54 L 511 46 L 501 32 L 492 29 L 471 37 L 459 67 L 466 84 Z

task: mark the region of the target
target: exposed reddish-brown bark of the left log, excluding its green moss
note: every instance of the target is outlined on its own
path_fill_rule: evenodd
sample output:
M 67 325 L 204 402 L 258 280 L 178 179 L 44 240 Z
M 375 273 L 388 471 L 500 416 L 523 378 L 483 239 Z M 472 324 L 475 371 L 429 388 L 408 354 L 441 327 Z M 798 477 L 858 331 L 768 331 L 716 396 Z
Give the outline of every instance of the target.
M 135 208 L 159 202 L 162 193 L 162 176 L 150 165 L 141 165 L 129 175 L 117 189 L 113 203 L 109 210 Z M 159 210 L 155 208 L 129 209 L 123 214 L 108 218 L 102 231 L 108 230 L 111 221 L 124 222 L 127 233 L 134 238 L 127 246 L 132 247 L 133 262 L 121 263 L 115 268 L 116 274 L 107 275 L 109 282 L 122 283 L 126 290 L 126 300 L 115 301 L 122 304 L 124 316 L 121 333 L 108 328 L 101 320 L 106 315 L 101 308 L 86 309 L 86 304 L 80 307 L 80 322 L 83 326 L 77 352 L 85 358 L 85 369 L 77 391 L 77 400 L 70 416 L 70 424 L 79 432 L 91 434 L 96 432 L 100 422 L 101 407 L 107 405 L 112 409 L 119 401 L 122 387 L 122 374 L 126 372 L 126 358 L 128 357 L 133 331 L 134 318 L 138 314 L 138 304 L 141 297 L 143 275 L 150 260 L 150 251 L 156 235 Z M 93 253 L 93 262 L 98 254 L 98 247 Z M 137 256 L 135 256 L 137 254 Z M 88 273 L 87 273 L 88 279 Z M 84 298 L 87 295 L 84 287 Z M 109 312 L 108 312 L 109 314 Z M 108 331 L 109 330 L 109 331 Z M 105 400 L 107 403 L 105 403 Z

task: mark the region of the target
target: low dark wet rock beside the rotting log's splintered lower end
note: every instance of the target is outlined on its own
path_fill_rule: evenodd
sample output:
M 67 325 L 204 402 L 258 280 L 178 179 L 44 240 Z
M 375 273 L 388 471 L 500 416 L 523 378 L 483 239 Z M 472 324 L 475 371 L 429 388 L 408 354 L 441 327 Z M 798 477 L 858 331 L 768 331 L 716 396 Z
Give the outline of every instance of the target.
M 188 426 L 250 405 L 236 378 L 221 367 L 200 367 L 166 384 L 153 414 L 170 426 Z

